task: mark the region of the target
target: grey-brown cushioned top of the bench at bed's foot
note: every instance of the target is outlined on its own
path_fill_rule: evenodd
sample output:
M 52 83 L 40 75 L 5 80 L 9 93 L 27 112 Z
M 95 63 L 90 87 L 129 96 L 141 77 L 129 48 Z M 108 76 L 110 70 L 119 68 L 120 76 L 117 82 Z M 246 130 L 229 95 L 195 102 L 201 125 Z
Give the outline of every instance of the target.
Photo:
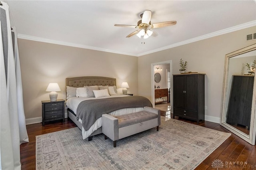
M 118 119 L 118 128 L 122 128 L 129 125 L 134 125 L 136 123 L 155 119 L 157 117 L 157 114 L 150 113 L 148 111 L 139 111 L 136 113 L 129 113 L 127 115 L 116 116 L 115 118 Z

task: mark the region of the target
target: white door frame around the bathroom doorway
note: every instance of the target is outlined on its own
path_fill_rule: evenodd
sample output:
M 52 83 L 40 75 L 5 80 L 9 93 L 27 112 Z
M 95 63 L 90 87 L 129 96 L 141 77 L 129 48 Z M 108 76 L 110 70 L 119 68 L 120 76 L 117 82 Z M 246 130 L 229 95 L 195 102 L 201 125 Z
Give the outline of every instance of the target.
M 158 62 L 158 63 L 151 63 L 151 101 L 152 101 L 152 105 L 153 107 L 155 107 L 155 79 L 154 79 L 154 66 L 155 65 L 160 65 L 160 64 L 170 64 L 170 80 L 171 82 L 173 81 L 172 79 L 172 60 L 168 60 L 168 61 L 162 61 L 162 62 Z M 172 86 L 173 86 L 173 82 L 171 83 L 171 90 L 170 90 L 170 102 L 172 101 L 171 99 L 173 99 L 173 92 L 172 92 Z M 171 113 L 173 113 L 173 107 L 171 107 Z

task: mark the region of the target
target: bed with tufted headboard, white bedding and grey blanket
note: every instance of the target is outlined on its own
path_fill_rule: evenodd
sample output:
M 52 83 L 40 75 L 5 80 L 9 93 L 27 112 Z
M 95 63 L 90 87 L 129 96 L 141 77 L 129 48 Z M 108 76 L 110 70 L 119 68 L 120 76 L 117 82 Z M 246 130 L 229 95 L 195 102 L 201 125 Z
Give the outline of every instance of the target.
M 110 77 L 86 76 L 66 78 L 66 87 L 68 118 L 82 130 L 83 139 L 87 138 L 88 141 L 92 140 L 92 136 L 102 133 L 102 114 L 108 113 L 112 116 L 119 116 L 142 111 L 144 106 L 152 107 L 151 102 L 145 97 L 117 94 L 116 79 Z M 83 89 L 82 87 L 86 87 L 87 94 L 88 89 L 91 90 L 98 87 L 101 90 L 93 90 L 94 97 L 84 97 L 78 92 Z M 101 94 L 98 93 L 100 91 L 108 91 L 110 95 L 98 95 Z M 135 100 L 138 101 L 134 102 Z M 122 104 L 119 104 L 119 101 Z M 103 105 L 107 107 L 103 107 Z M 94 119 L 95 122 L 91 122 L 91 119 Z

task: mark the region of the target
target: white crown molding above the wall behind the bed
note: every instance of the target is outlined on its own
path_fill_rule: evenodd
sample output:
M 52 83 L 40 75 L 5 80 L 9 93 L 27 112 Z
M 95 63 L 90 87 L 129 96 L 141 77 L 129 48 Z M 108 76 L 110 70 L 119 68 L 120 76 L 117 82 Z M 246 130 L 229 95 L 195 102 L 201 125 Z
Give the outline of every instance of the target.
M 110 50 L 110 49 L 104 49 L 104 48 L 99 48 L 99 47 L 94 47 L 94 46 L 89 46 L 89 45 L 83 45 L 83 44 L 78 44 L 78 43 L 70 43 L 70 42 L 50 40 L 50 39 L 36 37 L 36 36 L 28 36 L 28 35 L 25 35 L 25 34 L 18 34 L 18 38 L 25 39 L 25 40 L 37 41 L 37 42 L 53 43 L 53 44 L 58 44 L 58 45 L 66 45 L 66 46 L 70 46 L 70 47 L 92 49 L 92 50 L 96 50 L 96 51 L 104 51 L 104 52 L 109 52 L 109 53 L 118 53 L 118 54 L 131 55 L 131 56 L 138 57 L 138 55 L 136 55 L 134 53 L 125 53 L 125 52 L 121 52 L 121 51 L 114 51 L 114 50 Z

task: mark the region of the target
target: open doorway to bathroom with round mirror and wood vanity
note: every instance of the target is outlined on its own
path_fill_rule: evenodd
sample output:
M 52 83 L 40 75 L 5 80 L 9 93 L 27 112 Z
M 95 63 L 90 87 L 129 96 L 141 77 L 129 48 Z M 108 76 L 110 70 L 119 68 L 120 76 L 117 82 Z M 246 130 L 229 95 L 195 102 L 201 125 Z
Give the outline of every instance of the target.
M 157 74 L 156 74 L 157 73 Z M 156 77 L 155 77 L 156 75 Z M 160 76 L 159 76 L 160 75 Z M 159 79 L 160 77 L 160 79 Z M 156 78 L 156 81 L 155 81 Z M 163 97 L 163 103 L 170 104 L 170 112 L 172 112 L 172 60 L 151 64 L 151 97 L 152 105 L 155 108 L 156 103 L 161 103 L 161 99 L 155 98 L 155 90 L 168 89 L 168 97 Z M 162 97 L 161 97 L 162 98 Z M 167 101 L 168 100 L 168 101 Z

